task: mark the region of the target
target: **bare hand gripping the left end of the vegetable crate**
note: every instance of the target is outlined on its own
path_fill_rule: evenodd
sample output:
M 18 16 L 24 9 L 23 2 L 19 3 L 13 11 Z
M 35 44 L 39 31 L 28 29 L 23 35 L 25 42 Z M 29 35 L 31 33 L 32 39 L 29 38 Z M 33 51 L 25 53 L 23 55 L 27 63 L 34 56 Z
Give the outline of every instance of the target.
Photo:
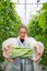
M 8 56 L 8 51 L 10 50 L 10 48 L 11 48 L 11 45 L 10 45 L 10 44 L 5 44 L 4 49 L 3 49 L 3 57 L 4 57 L 8 61 L 13 62 L 14 59 L 9 58 L 9 56 Z

